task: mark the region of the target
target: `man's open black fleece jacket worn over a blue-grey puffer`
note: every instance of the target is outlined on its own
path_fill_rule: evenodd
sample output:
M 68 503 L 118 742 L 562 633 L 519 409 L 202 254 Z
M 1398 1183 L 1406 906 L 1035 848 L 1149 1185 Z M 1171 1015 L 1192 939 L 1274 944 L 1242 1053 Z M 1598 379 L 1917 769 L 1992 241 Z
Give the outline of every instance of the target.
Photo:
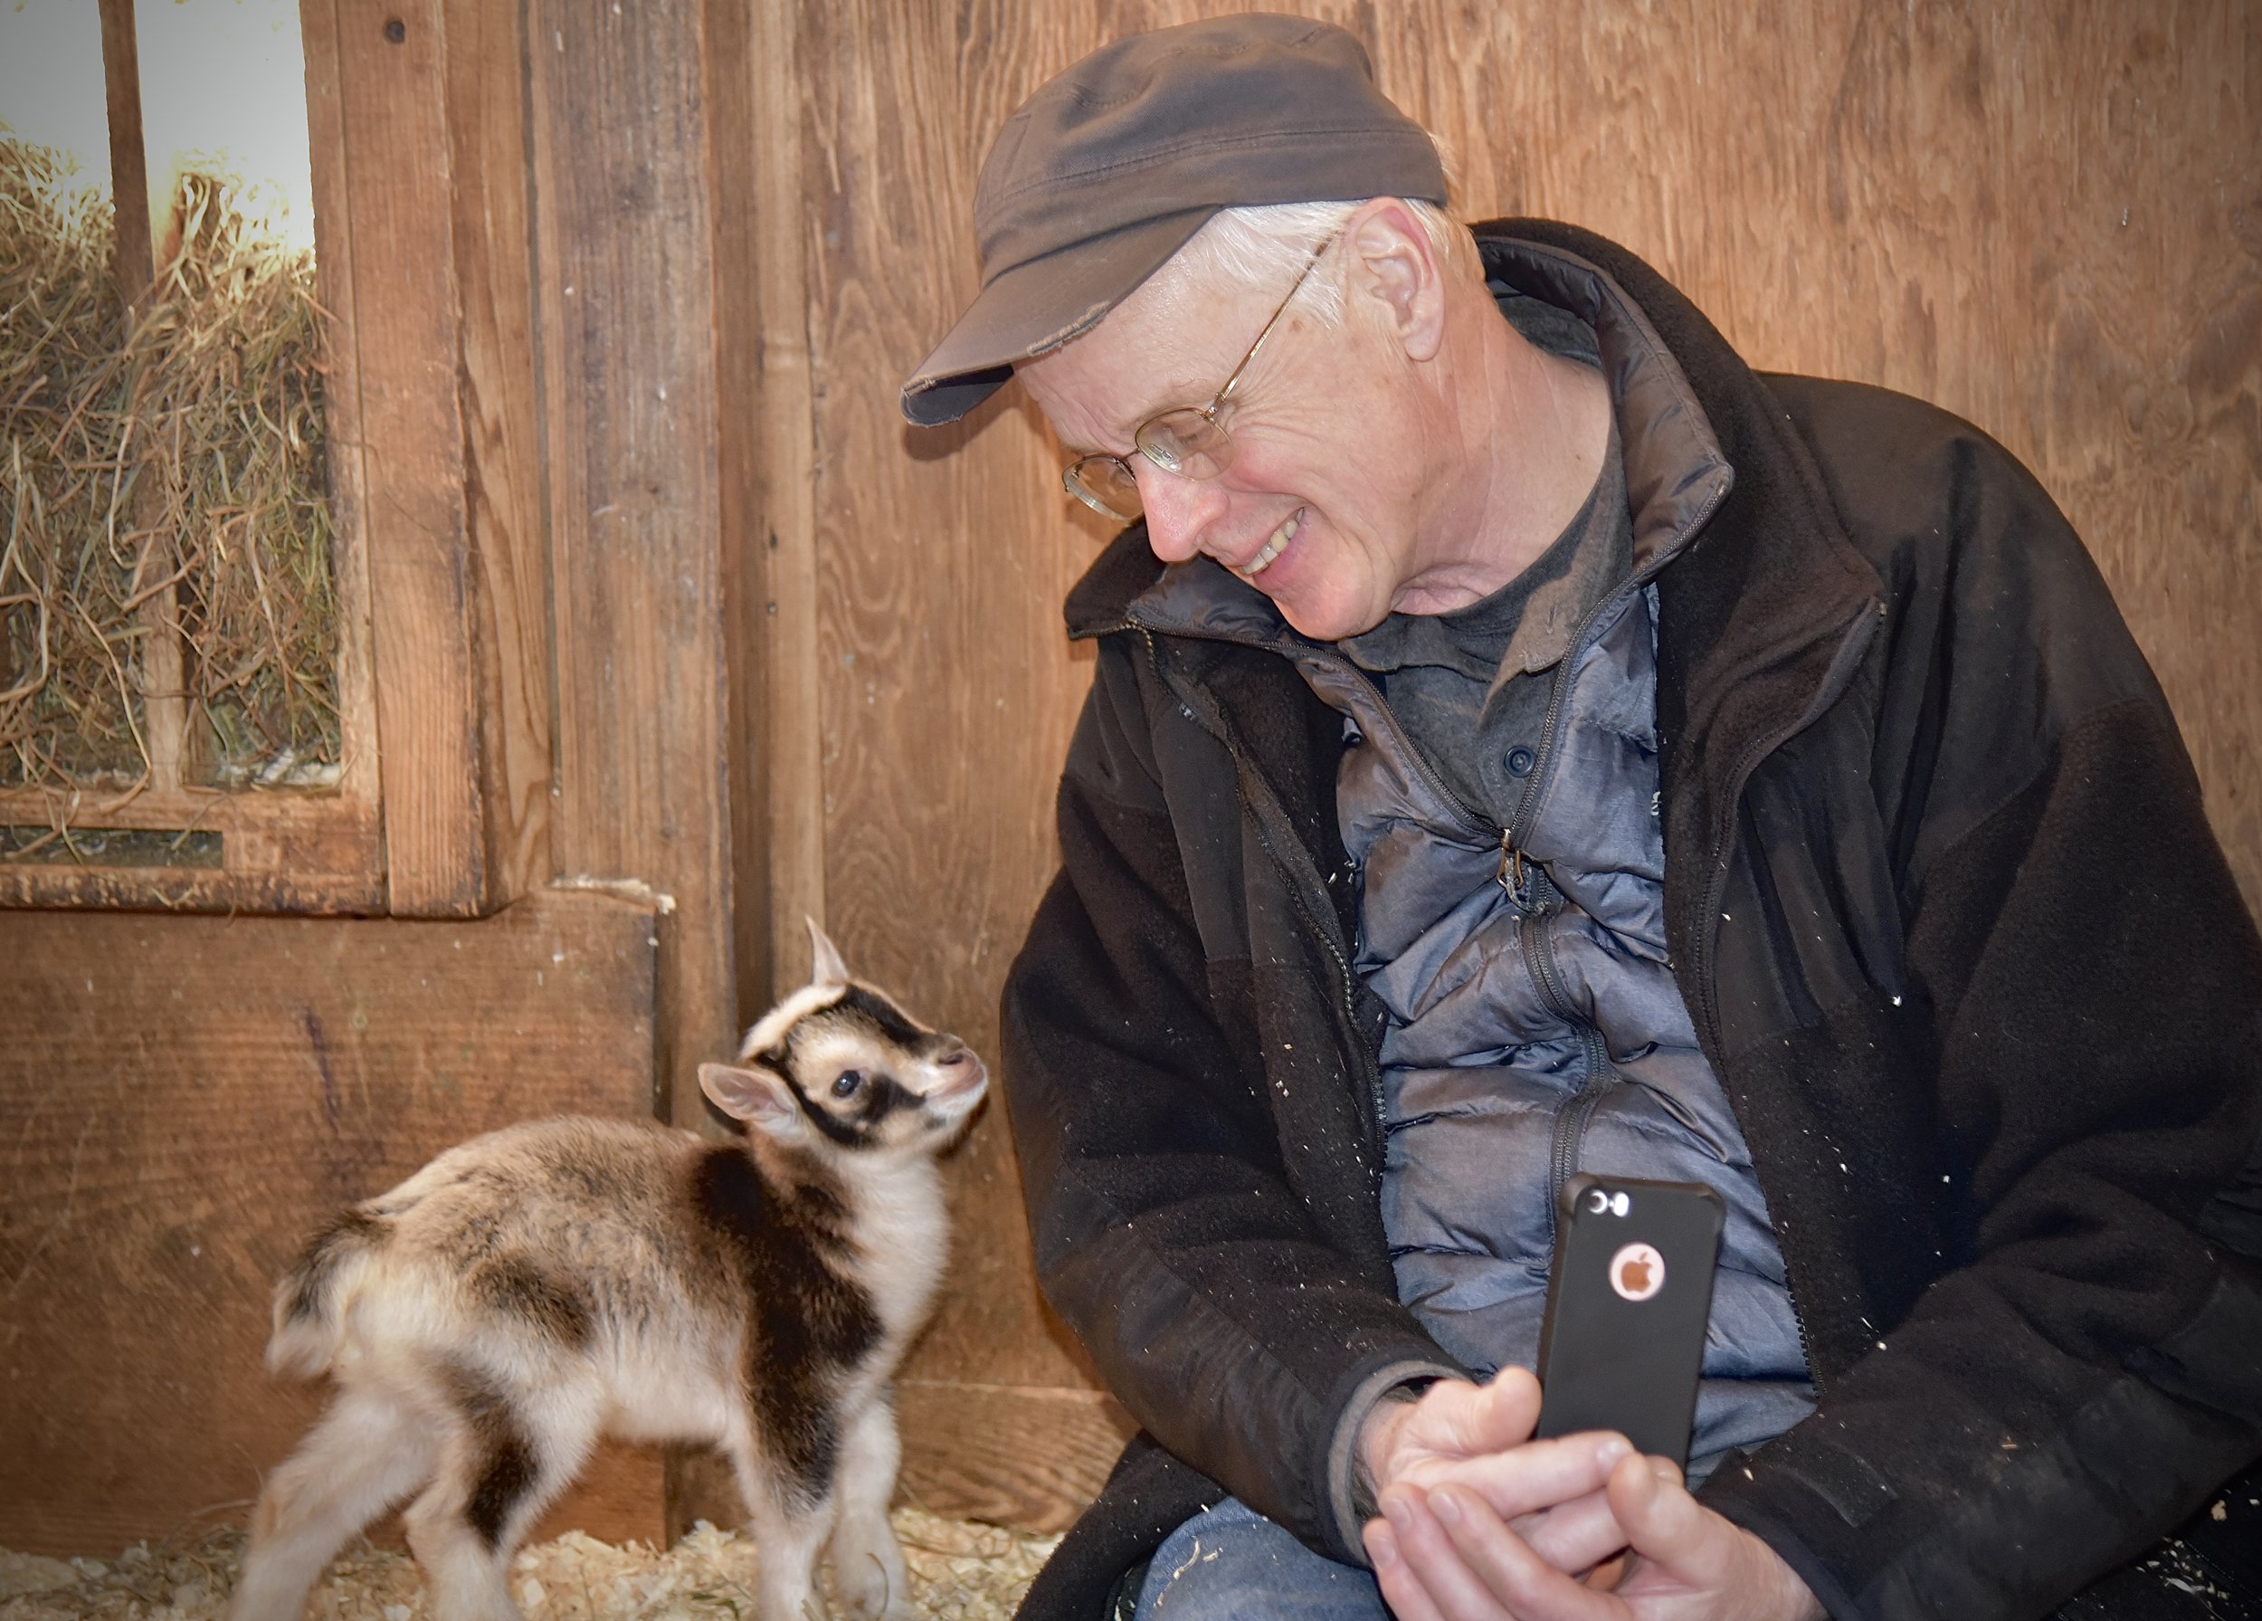
M 2262 1453 L 2262 940 L 2081 543 L 1968 423 L 1758 376 L 1622 290 L 1735 487 L 1658 577 L 1672 960 L 1767 1191 L 1816 1413 L 1703 1490 L 1837 1616 L 2038 1616 Z M 1622 423 L 1624 428 L 1624 423 Z M 1038 1275 L 1142 1422 L 1025 1616 L 1088 1621 L 1233 1492 L 1335 1558 L 1346 1415 L 1443 1358 L 1378 1213 L 1341 727 L 1287 661 L 1070 595 L 1097 672 L 1004 994 Z

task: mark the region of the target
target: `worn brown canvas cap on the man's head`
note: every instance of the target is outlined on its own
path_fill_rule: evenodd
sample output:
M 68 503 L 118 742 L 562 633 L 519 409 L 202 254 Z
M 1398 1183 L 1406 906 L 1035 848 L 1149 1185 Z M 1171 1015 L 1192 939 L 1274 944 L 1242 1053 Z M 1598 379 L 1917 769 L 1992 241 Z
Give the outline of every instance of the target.
M 1221 16 L 1102 45 L 998 131 L 975 186 L 982 292 L 903 385 L 903 414 L 957 421 L 1219 208 L 1364 197 L 1443 206 L 1445 170 L 1332 23 Z

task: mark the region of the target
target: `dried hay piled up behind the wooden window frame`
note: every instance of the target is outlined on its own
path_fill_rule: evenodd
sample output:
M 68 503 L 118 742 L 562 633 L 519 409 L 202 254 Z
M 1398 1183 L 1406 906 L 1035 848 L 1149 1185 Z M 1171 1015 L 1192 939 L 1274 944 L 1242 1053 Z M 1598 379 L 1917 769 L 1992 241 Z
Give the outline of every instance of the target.
M 337 593 L 312 254 L 185 174 L 133 310 L 113 215 L 0 140 L 0 786 L 147 779 L 145 602 L 179 600 L 192 779 L 335 781 Z

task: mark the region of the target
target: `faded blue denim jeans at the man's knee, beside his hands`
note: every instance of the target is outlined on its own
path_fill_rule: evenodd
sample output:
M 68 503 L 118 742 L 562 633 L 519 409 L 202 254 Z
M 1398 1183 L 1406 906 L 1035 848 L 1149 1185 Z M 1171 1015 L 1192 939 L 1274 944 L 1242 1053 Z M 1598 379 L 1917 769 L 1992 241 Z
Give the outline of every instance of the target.
M 1138 1621 L 1389 1621 L 1375 1578 L 1312 1553 L 1237 1499 L 1163 1537 Z

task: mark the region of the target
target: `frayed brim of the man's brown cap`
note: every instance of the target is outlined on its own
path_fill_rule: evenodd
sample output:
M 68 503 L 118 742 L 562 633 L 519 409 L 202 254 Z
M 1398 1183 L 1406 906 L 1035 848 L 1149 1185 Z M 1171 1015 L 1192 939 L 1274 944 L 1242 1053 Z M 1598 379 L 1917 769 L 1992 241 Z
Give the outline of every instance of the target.
M 1095 328 L 1212 213 L 1217 206 L 1140 220 L 1000 272 L 903 385 L 903 414 L 921 428 L 957 421 L 995 394 L 1016 362 Z

